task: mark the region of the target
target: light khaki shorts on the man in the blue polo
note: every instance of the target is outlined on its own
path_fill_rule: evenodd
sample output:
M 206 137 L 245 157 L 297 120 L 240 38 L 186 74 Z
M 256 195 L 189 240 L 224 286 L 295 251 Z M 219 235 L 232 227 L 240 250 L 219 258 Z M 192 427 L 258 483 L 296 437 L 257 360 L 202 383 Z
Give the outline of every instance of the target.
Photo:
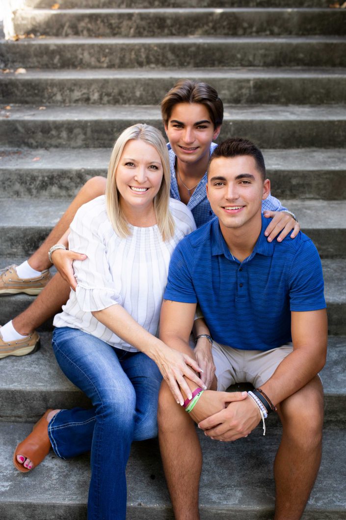
M 235 383 L 252 383 L 255 388 L 273 375 L 281 361 L 293 351 L 287 343 L 271 350 L 241 350 L 215 343 L 212 353 L 216 366 L 217 389 L 226 389 Z

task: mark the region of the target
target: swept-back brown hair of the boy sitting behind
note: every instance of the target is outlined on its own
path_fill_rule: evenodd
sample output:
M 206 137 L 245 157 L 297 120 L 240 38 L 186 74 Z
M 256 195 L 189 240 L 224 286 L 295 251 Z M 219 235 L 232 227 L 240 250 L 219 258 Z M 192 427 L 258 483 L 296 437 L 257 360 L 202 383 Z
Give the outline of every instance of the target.
M 214 128 L 220 126 L 224 119 L 224 105 L 215 88 L 207 83 L 179 80 L 162 99 L 161 114 L 165 125 L 168 125 L 173 107 L 177 103 L 201 103 L 208 110 Z

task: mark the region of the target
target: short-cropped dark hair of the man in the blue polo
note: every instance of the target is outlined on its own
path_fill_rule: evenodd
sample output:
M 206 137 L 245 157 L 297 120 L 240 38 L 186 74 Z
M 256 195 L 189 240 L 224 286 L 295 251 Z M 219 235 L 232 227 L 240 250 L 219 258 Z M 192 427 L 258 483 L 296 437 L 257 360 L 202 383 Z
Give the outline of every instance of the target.
M 214 149 L 210 156 L 209 166 L 213 159 L 218 157 L 238 157 L 239 155 L 250 155 L 256 163 L 258 172 L 263 180 L 266 178 L 266 165 L 262 152 L 253 142 L 243 137 L 229 137 Z

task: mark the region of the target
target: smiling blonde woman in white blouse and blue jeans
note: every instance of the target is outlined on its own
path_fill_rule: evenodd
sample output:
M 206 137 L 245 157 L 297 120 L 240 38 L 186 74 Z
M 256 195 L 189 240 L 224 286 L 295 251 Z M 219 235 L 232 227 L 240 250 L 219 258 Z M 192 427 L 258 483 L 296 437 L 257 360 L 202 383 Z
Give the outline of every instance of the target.
M 157 435 L 162 376 L 175 399 L 203 386 L 192 358 L 157 337 L 162 295 L 176 244 L 196 228 L 185 204 L 169 198 L 168 150 L 148 125 L 127 128 L 110 158 L 105 196 L 82 206 L 72 224 L 76 291 L 54 318 L 53 349 L 91 410 L 48 410 L 16 449 L 31 471 L 52 447 L 61 458 L 91 450 L 89 520 L 126 516 L 125 469 L 132 440 Z

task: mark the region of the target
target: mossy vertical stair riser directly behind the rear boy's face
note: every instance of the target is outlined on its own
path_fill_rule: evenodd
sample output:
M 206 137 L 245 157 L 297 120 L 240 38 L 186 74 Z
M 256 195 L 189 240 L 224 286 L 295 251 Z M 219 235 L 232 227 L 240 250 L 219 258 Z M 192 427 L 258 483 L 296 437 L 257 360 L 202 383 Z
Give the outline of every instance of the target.
M 38 108 L 38 107 L 37 107 Z M 37 112 L 37 109 L 33 109 Z M 0 146 L 28 148 L 101 148 L 113 147 L 116 136 L 134 123 L 148 123 L 163 132 L 160 119 L 155 116 L 134 117 L 131 108 L 126 119 L 105 120 L 45 120 L 40 115 L 25 119 L 0 119 Z M 66 118 L 68 113 L 66 113 Z M 260 148 L 342 148 L 346 135 L 346 119 L 248 119 L 232 120 L 226 116 L 219 139 L 245 136 Z

